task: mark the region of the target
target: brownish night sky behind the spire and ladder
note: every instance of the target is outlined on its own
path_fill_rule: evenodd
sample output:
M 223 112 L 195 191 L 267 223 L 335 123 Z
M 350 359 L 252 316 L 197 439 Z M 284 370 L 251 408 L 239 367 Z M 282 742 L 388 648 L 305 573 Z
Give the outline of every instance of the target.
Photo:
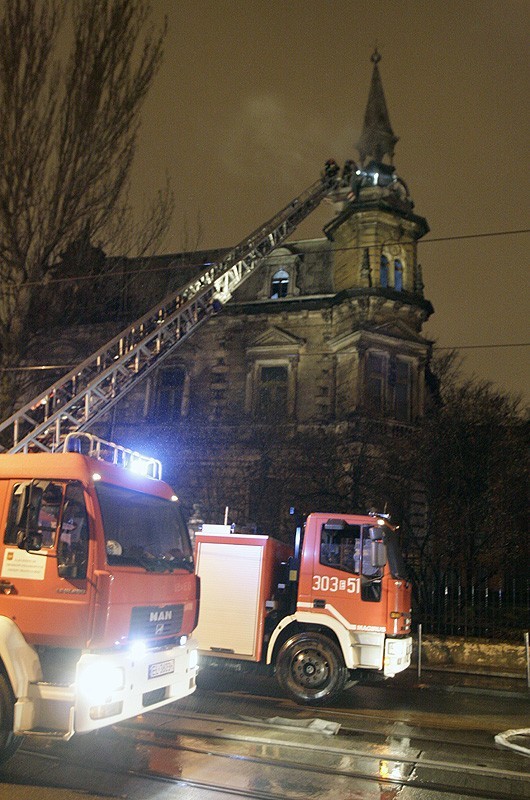
M 143 113 L 137 186 L 169 174 L 164 250 L 236 244 L 318 177 L 356 158 L 374 45 L 394 163 L 415 211 L 424 333 L 439 346 L 516 345 L 528 331 L 527 0 L 151 0 L 168 15 Z M 322 235 L 323 204 L 294 238 Z M 186 235 L 186 230 L 188 235 Z M 527 347 L 465 349 L 466 370 L 528 393 Z

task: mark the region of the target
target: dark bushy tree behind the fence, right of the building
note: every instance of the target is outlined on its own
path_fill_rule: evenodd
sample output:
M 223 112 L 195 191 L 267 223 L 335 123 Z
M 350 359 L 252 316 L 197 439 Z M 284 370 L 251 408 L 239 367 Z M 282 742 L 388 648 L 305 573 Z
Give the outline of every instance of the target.
M 458 587 L 464 607 L 479 585 L 506 589 L 528 563 L 528 422 L 517 397 L 464 379 L 461 363 L 457 352 L 435 361 L 438 402 L 389 460 L 417 607 L 434 616 L 446 587 Z

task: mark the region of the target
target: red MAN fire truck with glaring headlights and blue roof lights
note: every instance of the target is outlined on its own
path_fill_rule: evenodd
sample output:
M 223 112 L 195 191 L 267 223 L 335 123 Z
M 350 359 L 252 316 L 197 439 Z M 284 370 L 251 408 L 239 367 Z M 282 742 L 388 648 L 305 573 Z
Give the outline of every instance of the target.
M 195 689 L 199 581 L 160 463 L 89 434 L 0 455 L 0 760 Z

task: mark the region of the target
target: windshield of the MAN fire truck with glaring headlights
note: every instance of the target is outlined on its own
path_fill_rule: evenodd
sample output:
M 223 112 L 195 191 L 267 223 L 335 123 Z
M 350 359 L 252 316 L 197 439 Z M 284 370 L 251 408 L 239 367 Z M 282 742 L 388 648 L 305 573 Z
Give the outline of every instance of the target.
M 177 503 L 98 483 L 109 564 L 153 572 L 193 571 L 188 530 Z

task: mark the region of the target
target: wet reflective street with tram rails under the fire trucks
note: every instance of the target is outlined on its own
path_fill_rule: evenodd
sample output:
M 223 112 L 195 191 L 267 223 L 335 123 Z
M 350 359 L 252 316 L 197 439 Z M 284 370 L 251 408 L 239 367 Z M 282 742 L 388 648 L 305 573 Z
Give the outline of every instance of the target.
M 530 800 L 530 758 L 495 743 L 530 727 L 526 687 L 447 683 L 409 674 L 308 708 L 270 679 L 204 674 L 194 695 L 97 735 L 27 739 L 0 798 Z

